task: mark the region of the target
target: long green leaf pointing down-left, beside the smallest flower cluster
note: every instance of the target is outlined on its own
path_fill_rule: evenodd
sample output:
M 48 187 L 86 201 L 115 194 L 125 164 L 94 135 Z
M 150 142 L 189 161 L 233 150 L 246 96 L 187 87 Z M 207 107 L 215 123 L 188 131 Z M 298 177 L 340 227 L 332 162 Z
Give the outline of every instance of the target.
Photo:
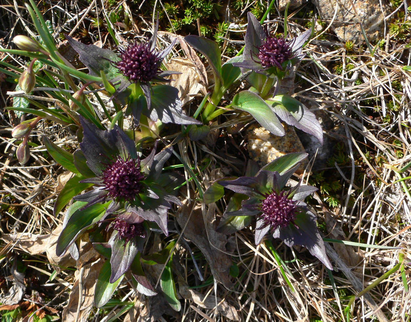
M 107 206 L 110 202 L 105 204 L 94 204 L 85 209 L 77 209 L 67 221 L 67 225 L 63 228 L 57 240 L 57 247 L 55 253 L 61 256 L 70 244 L 77 239 L 88 227 L 100 218 L 106 212 Z

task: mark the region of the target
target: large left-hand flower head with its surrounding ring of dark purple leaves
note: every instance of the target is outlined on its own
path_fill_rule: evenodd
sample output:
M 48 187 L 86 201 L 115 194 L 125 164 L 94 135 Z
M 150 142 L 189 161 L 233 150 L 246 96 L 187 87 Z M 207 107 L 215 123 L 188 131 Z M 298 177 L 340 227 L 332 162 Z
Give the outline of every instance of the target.
M 167 211 L 171 203 L 181 205 L 173 195 L 173 188 L 179 184 L 180 178 L 162 174 L 173 148 L 165 148 L 156 154 L 156 143 L 150 154 L 142 158 L 134 141 L 118 126 L 112 130 L 99 130 L 82 117 L 80 122 L 83 141 L 74 153 L 74 163 L 86 177 L 81 183 L 92 183 L 93 189 L 74 199 L 87 202 L 83 209 L 112 201 L 106 215 L 124 209 L 128 223 L 135 224 L 142 219 L 154 221 L 164 234 L 168 234 Z

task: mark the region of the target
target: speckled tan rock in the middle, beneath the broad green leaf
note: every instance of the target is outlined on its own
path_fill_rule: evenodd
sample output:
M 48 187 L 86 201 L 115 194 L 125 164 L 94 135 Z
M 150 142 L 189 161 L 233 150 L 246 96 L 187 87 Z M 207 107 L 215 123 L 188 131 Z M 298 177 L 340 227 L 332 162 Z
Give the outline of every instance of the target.
M 247 150 L 250 158 L 257 162 L 259 167 L 287 153 L 305 152 L 294 127 L 283 125 L 285 130 L 283 137 L 271 134 L 259 124 L 253 124 L 247 129 Z M 307 159 L 304 160 L 299 170 L 303 171 L 307 162 Z

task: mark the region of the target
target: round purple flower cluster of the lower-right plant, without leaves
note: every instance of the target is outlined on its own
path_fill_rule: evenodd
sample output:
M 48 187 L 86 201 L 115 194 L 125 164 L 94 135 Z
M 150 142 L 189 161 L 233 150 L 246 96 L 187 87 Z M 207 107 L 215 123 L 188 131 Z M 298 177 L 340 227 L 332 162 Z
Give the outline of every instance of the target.
M 260 227 L 270 226 L 274 232 L 277 227 L 286 228 L 290 222 L 296 219 L 296 201 L 288 199 L 288 194 L 283 190 L 279 194 L 275 191 L 266 194 L 266 199 L 263 200 L 260 206 L 261 215 L 259 219 L 263 220 L 264 225 Z

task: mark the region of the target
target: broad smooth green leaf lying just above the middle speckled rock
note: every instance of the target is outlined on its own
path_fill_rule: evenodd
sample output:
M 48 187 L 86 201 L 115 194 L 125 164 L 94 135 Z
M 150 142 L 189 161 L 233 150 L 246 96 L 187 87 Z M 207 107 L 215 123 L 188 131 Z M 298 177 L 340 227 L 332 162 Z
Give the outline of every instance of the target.
M 266 104 L 266 102 L 256 93 L 249 90 L 243 90 L 233 97 L 231 105 L 240 111 L 245 111 L 256 119 L 263 127 L 272 134 L 283 136 L 284 127 L 281 125 L 277 116 Z

